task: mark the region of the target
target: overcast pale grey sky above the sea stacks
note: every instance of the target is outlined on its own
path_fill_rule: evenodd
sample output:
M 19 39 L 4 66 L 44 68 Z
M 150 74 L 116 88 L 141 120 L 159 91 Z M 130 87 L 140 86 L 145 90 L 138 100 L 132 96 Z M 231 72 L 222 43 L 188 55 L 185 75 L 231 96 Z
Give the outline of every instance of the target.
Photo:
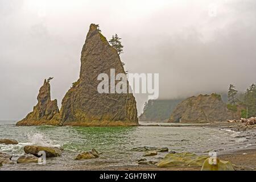
M 214 12 L 216 7 L 216 14 Z M 130 73 L 159 73 L 160 98 L 256 81 L 256 1 L 0 0 L 0 119 L 32 111 L 43 79 L 59 106 L 79 77 L 90 23 L 122 38 Z M 141 113 L 146 96 L 136 95 Z

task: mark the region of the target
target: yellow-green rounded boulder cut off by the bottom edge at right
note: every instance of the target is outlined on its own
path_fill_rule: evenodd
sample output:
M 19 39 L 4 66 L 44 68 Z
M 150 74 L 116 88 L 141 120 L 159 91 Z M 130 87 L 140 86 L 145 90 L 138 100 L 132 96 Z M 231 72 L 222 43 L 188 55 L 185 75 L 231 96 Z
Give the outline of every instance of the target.
M 216 159 L 216 164 L 209 161 L 210 158 L 205 159 L 201 171 L 234 171 L 232 164 L 228 161 Z

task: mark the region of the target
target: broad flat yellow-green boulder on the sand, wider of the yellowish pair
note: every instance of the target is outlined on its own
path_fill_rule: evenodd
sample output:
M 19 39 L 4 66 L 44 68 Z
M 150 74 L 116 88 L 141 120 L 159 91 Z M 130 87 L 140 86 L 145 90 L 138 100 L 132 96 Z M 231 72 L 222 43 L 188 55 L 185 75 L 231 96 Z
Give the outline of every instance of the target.
M 167 154 L 158 163 L 158 167 L 201 167 L 207 158 L 190 152 Z

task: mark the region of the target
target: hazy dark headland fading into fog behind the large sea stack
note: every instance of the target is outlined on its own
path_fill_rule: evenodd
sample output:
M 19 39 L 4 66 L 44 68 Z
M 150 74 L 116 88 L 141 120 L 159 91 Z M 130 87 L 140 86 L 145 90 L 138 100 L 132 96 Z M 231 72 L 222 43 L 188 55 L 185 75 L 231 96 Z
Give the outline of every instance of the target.
M 148 100 L 139 121 L 168 121 L 172 111 L 183 100 Z

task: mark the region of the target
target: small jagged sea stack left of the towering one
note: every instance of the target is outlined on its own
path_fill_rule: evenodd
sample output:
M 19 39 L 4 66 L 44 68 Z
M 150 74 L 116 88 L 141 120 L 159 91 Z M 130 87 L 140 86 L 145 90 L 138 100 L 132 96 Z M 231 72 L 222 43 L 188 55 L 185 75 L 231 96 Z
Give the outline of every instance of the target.
M 57 100 L 51 101 L 51 91 L 49 81 L 44 80 L 43 86 L 39 90 L 38 104 L 26 118 L 16 123 L 17 126 L 33 125 L 60 125 L 53 117 L 59 113 Z

